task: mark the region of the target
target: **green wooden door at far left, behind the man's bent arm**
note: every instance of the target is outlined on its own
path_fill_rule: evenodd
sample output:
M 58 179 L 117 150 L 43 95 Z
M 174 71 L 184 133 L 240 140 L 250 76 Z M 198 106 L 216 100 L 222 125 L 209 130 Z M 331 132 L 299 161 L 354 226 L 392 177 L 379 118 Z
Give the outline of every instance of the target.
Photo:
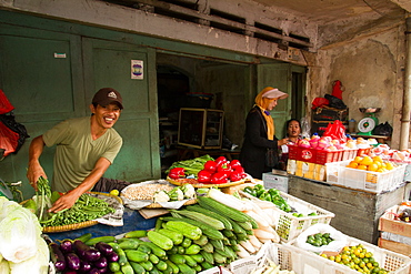
M 0 89 L 30 135 L 17 154 L 0 162 L 0 177 L 22 181 L 29 197 L 34 194 L 26 179 L 31 140 L 64 119 L 84 115 L 80 38 L 2 24 Z M 54 148 L 46 149 L 40 159 L 49 177 L 53 152 Z

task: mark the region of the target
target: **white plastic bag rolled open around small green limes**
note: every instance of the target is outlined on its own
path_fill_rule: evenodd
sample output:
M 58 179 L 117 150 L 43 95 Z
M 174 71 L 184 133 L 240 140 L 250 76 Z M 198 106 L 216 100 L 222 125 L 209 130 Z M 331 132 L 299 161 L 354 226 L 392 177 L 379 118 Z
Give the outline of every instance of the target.
M 307 243 L 307 239 L 310 235 L 314 235 L 317 233 L 330 233 L 330 236 L 334 240 L 328 245 L 322 246 L 314 246 L 312 244 Z M 308 227 L 304 232 L 302 232 L 297 239 L 295 239 L 295 245 L 302 250 L 311 251 L 315 253 L 321 253 L 323 251 L 333 251 L 339 252 L 341 248 L 343 248 L 347 245 L 348 237 L 341 233 L 340 231 L 335 230 L 329 224 L 314 224 Z

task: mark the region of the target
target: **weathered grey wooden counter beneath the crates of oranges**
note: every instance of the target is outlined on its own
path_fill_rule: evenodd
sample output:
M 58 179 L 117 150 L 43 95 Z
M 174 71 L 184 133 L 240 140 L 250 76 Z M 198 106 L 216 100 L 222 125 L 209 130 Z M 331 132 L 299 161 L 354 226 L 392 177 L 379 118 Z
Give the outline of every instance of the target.
M 378 244 L 380 216 L 404 199 L 405 183 L 395 190 L 370 193 L 289 175 L 289 194 L 335 214 L 330 225 L 342 233 Z

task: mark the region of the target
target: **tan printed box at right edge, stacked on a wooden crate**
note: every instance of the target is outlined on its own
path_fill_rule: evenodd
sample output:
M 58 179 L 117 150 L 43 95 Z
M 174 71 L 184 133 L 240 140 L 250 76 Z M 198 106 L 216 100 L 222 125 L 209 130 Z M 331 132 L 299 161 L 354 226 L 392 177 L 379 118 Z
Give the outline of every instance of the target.
M 385 211 L 385 213 L 380 217 L 378 230 L 411 237 L 411 223 L 394 220 L 394 215 L 392 213 L 397 213 L 398 207 L 399 205 L 394 205 Z

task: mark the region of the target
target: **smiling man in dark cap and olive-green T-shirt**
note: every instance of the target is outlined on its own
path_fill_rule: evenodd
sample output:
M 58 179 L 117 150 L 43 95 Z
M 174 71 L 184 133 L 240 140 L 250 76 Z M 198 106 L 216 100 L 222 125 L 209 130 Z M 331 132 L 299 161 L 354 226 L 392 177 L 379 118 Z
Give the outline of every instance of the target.
M 90 104 L 91 116 L 66 120 L 32 140 L 27 177 L 34 190 L 40 176 L 47 179 L 40 164 L 44 146 L 57 146 L 51 189 L 64 194 L 50 212 L 70 209 L 84 192 L 121 191 L 130 184 L 102 177 L 122 146 L 122 138 L 113 129 L 122 109 L 117 90 L 100 89 Z

